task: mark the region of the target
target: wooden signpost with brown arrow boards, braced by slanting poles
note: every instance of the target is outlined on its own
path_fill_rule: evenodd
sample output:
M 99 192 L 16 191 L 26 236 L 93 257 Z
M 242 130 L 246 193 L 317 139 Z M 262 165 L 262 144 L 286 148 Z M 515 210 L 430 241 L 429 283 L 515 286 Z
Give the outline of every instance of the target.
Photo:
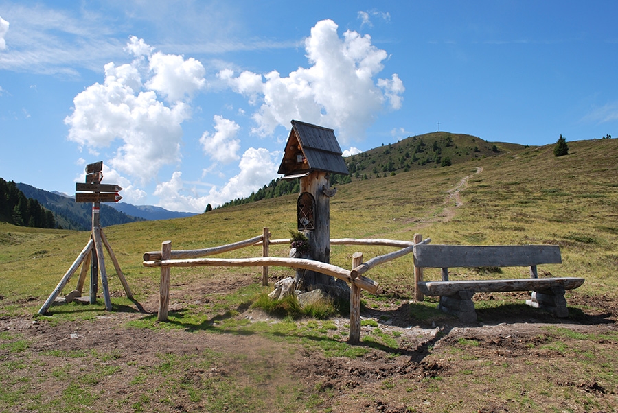
M 111 184 L 102 184 L 100 183 L 103 179 L 103 161 L 89 163 L 86 166 L 86 182 L 80 183 L 77 182 L 75 185 L 75 190 L 77 191 L 75 194 L 75 202 L 92 202 L 92 234 L 91 239 L 88 241 L 80 255 L 78 255 L 77 259 L 73 262 L 69 270 L 62 276 L 60 283 L 56 286 L 52 294 L 47 298 L 43 307 L 38 310 L 38 314 L 45 314 L 49 307 L 52 306 L 54 300 L 58 297 L 58 294 L 62 292 L 62 289 L 67 285 L 69 279 L 73 273 L 82 265 L 82 270 L 80 271 L 80 278 L 78 281 L 78 285 L 76 290 L 70 292 L 65 300 L 68 300 L 69 297 L 71 300 L 79 298 L 82 296 L 82 290 L 84 287 L 84 281 L 86 281 L 86 275 L 88 273 L 88 266 L 91 266 L 91 276 L 90 276 L 90 303 L 94 304 L 97 300 L 97 292 L 98 292 L 98 273 L 101 274 L 101 285 L 103 287 L 103 297 L 105 300 L 105 309 L 107 311 L 111 311 L 111 299 L 109 296 L 109 287 L 107 280 L 107 272 L 105 270 L 105 260 L 103 257 L 103 246 L 107 249 L 109 257 L 111 258 L 116 273 L 118 274 L 118 278 L 124 287 L 124 291 L 126 292 L 126 296 L 128 298 L 133 298 L 133 294 L 124 278 L 124 274 L 122 274 L 122 270 L 120 270 L 120 266 L 116 259 L 116 256 L 107 241 L 105 234 L 103 233 L 103 228 L 101 228 L 100 224 L 100 203 L 101 202 L 118 202 L 122 199 L 122 196 L 119 196 L 118 192 L 122 191 L 122 187 L 119 185 L 111 185 Z

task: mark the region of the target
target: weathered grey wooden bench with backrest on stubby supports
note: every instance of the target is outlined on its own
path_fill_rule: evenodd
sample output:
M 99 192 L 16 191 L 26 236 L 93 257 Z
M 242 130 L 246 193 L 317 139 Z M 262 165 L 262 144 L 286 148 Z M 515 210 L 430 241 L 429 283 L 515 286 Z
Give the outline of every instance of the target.
M 413 248 L 414 266 L 442 268 L 442 281 L 418 282 L 420 291 L 440 296 L 439 308 L 455 314 L 463 322 L 475 322 L 472 296 L 476 292 L 531 291 L 532 307 L 547 309 L 557 317 L 569 316 L 564 291 L 577 288 L 583 278 L 538 278 L 539 264 L 562 263 L 560 247 L 525 246 L 459 246 L 419 244 Z M 448 268 L 530 267 L 529 279 L 450 281 Z

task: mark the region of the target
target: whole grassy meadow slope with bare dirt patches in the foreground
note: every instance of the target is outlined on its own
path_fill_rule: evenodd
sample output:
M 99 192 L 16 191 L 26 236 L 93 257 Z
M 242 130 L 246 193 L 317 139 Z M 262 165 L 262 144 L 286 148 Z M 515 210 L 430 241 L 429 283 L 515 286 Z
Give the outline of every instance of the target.
M 173 268 L 170 321 L 156 321 L 159 270 L 142 266 L 144 252 L 166 239 L 174 249 L 227 244 L 263 226 L 288 237 L 297 195 L 106 227 L 137 301 L 124 297 L 108 264 L 113 313 L 99 299 L 33 316 L 89 233 L 0 224 L 0 410 L 616 411 L 618 140 L 569 142 L 560 158 L 553 145 L 495 145 L 496 156 L 341 185 L 331 198 L 331 237 L 422 233 L 433 244 L 558 244 L 563 263 L 538 270 L 586 278 L 567 293 L 568 319 L 523 305 L 524 292 L 477 294 L 481 323 L 454 327 L 435 298 L 411 301 L 407 256 L 365 274 L 380 289 L 362 293 L 360 346 L 345 342 L 345 318 L 258 319 L 250 311 L 273 281 L 293 274 L 287 268 L 271 268 L 266 290 L 259 268 Z M 331 261 L 349 268 L 356 250 L 367 260 L 392 248 L 332 246 Z M 273 256 L 287 254 L 286 246 L 271 247 Z M 528 269 L 450 274 L 527 277 Z

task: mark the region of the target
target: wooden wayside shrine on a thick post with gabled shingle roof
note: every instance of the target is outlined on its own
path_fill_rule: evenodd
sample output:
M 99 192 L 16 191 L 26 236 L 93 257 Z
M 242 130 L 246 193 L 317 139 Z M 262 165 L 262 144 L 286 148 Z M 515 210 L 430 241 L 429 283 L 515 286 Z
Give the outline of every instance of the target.
M 330 261 L 330 174 L 347 175 L 341 147 L 334 131 L 301 121 L 292 121 L 279 174 L 284 179 L 300 178 L 297 201 L 297 229 L 311 246 L 310 258 Z M 330 276 L 306 271 L 299 287 L 328 284 Z

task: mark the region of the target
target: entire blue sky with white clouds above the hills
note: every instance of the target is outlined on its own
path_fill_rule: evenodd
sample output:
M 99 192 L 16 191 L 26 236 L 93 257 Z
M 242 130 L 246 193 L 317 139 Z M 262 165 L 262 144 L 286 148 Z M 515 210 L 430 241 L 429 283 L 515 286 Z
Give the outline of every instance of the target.
M 618 137 L 615 1 L 2 1 L 0 177 L 201 212 L 277 178 L 297 119 L 345 154 L 446 130 Z M 439 123 L 439 125 L 438 125 Z

